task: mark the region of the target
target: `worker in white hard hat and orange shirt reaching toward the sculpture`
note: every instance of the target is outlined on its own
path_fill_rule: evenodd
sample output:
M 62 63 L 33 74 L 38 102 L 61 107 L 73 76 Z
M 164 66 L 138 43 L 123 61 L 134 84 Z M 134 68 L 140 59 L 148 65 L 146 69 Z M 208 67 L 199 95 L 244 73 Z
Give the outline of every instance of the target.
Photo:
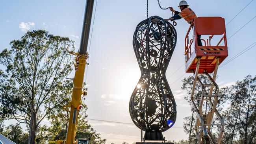
M 181 18 L 184 18 L 189 24 L 191 24 L 191 22 L 195 18 L 197 18 L 197 15 L 195 14 L 194 11 L 192 11 L 191 8 L 189 8 L 189 5 L 185 0 L 180 1 L 180 4 L 178 7 L 180 8 L 181 12 L 175 11 L 173 7 L 169 7 L 170 10 L 174 12 L 174 16 L 171 18 L 165 19 L 166 21 L 168 20 L 173 21 L 173 20 L 179 20 Z M 197 35 L 197 45 L 202 46 L 201 35 Z

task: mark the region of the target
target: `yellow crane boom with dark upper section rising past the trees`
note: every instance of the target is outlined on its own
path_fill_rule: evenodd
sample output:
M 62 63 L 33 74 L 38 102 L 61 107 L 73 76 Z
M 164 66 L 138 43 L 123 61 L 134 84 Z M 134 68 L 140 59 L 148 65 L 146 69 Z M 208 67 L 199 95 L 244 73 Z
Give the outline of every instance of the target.
M 82 108 L 81 97 L 86 95 L 86 91 L 82 91 L 83 87 L 83 78 L 85 73 L 85 65 L 87 65 L 86 60 L 88 59 L 87 45 L 89 39 L 89 32 L 91 27 L 91 18 L 93 13 L 93 4 L 94 0 L 87 0 L 85 6 L 85 14 L 83 19 L 83 29 L 80 42 L 80 49 L 77 53 L 70 52 L 70 54 L 76 55 L 76 61 L 74 63 L 75 67 L 75 76 L 74 76 L 74 85 L 72 91 L 72 100 L 69 105 L 64 105 L 63 109 L 70 113 L 69 115 L 69 124 L 67 129 L 66 140 L 59 140 L 57 144 L 88 144 L 88 140 L 85 138 L 79 138 L 74 140 L 76 136 L 76 125 L 78 121 L 78 113 Z

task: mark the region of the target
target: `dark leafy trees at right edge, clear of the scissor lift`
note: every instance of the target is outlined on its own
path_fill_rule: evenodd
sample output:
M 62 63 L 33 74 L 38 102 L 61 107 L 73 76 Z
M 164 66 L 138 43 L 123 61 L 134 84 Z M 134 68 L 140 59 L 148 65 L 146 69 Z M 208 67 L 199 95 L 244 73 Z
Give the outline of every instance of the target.
M 256 76 L 246 76 L 229 88 L 230 106 L 224 112 L 223 144 L 256 141 Z

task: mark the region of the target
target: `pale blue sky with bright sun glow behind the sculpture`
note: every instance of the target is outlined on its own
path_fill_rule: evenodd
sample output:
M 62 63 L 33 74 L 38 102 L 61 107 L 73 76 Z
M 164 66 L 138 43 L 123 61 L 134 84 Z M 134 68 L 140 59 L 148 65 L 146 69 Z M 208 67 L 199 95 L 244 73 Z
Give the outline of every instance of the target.
M 226 23 L 234 18 L 251 0 L 187 0 L 198 17 L 219 16 Z M 179 0 L 160 0 L 162 7 L 178 9 Z M 96 0 L 95 0 L 96 4 Z M 226 26 L 229 56 L 231 59 L 256 41 L 256 1 L 252 1 L 230 24 Z M 0 1 L 0 50 L 10 48 L 9 42 L 19 39 L 27 30 L 44 29 L 54 35 L 70 37 L 79 48 L 82 31 L 85 0 L 2 0 Z M 169 10 L 161 10 L 157 0 L 149 0 L 148 15 L 171 17 Z M 95 9 L 94 9 L 95 11 Z M 94 13 L 93 13 L 94 14 Z M 139 22 L 146 18 L 146 0 L 98 0 L 90 59 L 86 83 L 88 84 L 89 118 L 132 123 L 128 112 L 130 95 L 140 77 L 132 47 L 132 36 Z M 177 20 L 175 27 L 178 41 L 166 76 L 177 103 L 177 120 L 174 127 L 163 135 L 168 140 L 186 139 L 182 123 L 189 116 L 189 105 L 181 92 L 185 74 L 184 37 L 189 25 L 185 20 Z M 91 24 L 93 26 L 93 24 Z M 88 48 L 89 50 L 89 48 Z M 217 83 L 231 85 L 247 74 L 256 75 L 256 46 L 240 55 L 218 71 Z M 3 66 L 0 66 L 3 69 Z M 178 70 L 178 68 L 180 68 Z M 174 73 L 178 70 L 176 73 Z M 173 74 L 174 73 L 174 74 Z M 185 74 L 185 75 L 184 75 Z M 184 76 L 183 76 L 184 75 Z M 182 76 L 182 77 L 181 77 Z M 70 76 L 72 77 L 72 76 Z M 180 78 L 181 77 L 181 78 Z M 180 78 L 180 79 L 178 79 Z M 177 80 L 178 79 L 178 80 Z M 176 82 L 175 82 L 176 81 Z M 15 123 L 8 120 L 7 123 Z M 45 120 L 44 124 L 48 122 Z M 121 143 L 140 140 L 140 131 L 135 126 L 102 123 L 89 120 L 108 142 Z

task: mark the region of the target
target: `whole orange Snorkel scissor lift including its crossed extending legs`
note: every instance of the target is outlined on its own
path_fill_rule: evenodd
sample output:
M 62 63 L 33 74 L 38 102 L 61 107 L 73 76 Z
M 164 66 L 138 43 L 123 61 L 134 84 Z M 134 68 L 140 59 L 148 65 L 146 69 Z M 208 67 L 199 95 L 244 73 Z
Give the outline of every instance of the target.
M 189 33 L 193 30 L 193 39 L 189 40 Z M 203 46 L 198 46 L 198 35 L 208 35 Z M 215 35 L 222 36 L 217 44 L 213 43 Z M 218 37 L 217 36 L 217 37 Z M 223 42 L 224 46 L 220 46 Z M 191 46 L 194 46 L 191 49 Z M 197 115 L 195 131 L 197 144 L 220 144 L 224 132 L 224 120 L 216 109 L 219 97 L 219 87 L 215 83 L 218 67 L 228 56 L 226 42 L 226 28 L 224 18 L 198 17 L 190 25 L 185 38 L 186 72 L 193 73 L 194 82 L 191 92 L 191 103 Z M 211 76 L 209 73 L 213 73 Z M 204 78 L 204 79 L 201 79 Z M 207 81 L 206 81 L 207 80 Z M 196 84 L 202 88 L 200 96 L 194 96 Z M 204 111 L 202 110 L 204 108 Z M 213 124 L 216 114 L 219 122 Z M 219 127 L 219 135 L 213 136 L 211 128 Z M 215 131 L 216 132 L 216 131 Z

